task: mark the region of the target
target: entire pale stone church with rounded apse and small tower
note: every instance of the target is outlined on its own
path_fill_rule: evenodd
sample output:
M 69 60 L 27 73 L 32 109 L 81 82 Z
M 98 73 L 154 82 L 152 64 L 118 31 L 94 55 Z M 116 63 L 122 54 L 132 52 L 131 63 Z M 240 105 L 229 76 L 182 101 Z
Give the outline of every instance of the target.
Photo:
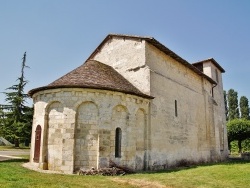
M 30 163 L 72 174 L 111 161 L 141 171 L 224 160 L 224 72 L 152 37 L 109 34 L 78 68 L 29 91 Z

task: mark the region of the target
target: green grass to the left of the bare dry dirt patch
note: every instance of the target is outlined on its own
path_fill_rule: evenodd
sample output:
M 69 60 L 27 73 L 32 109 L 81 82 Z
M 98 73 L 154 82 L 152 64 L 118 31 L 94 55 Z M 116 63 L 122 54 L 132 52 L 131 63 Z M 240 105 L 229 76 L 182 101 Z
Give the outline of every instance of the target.
M 112 181 L 104 176 L 78 176 L 62 174 L 45 174 L 28 170 L 21 166 L 27 160 L 9 160 L 0 162 L 1 188 L 28 188 L 28 187 L 133 187 L 128 183 Z

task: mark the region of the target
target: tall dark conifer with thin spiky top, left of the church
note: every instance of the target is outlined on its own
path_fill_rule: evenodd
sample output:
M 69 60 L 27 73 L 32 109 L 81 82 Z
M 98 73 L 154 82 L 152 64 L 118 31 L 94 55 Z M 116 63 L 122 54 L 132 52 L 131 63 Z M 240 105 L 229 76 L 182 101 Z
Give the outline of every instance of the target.
M 1 116 L 1 132 L 6 139 L 15 143 L 19 147 L 20 141 L 30 139 L 33 108 L 26 106 L 28 95 L 24 93 L 24 87 L 28 83 L 24 77 L 24 69 L 27 68 L 26 52 L 22 58 L 21 76 L 17 79 L 17 84 L 7 88 L 11 92 L 4 92 L 7 104 L 0 105 L 3 111 Z

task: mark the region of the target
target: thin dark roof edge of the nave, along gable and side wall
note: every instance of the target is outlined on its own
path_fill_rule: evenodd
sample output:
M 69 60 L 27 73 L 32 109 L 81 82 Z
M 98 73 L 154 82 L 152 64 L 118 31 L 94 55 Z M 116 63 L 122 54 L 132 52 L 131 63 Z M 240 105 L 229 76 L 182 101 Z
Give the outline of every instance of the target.
M 164 46 L 163 44 L 161 44 L 159 41 L 157 41 L 156 39 L 154 39 L 153 37 L 141 37 L 141 36 L 135 36 L 135 35 L 120 35 L 120 34 L 109 34 L 102 42 L 101 44 L 95 49 L 95 51 L 89 56 L 88 59 L 92 59 L 96 53 L 98 53 L 102 46 L 111 38 L 116 37 L 116 38 L 123 38 L 125 39 L 137 39 L 137 40 L 145 40 L 148 43 L 150 43 L 151 45 L 155 46 L 156 48 L 158 48 L 160 51 L 162 51 L 163 53 L 165 53 L 166 55 L 172 57 L 173 59 L 175 59 L 176 61 L 178 61 L 179 63 L 183 64 L 184 66 L 186 66 L 187 68 L 191 69 L 192 71 L 194 71 L 196 74 L 200 75 L 201 77 L 206 78 L 208 81 L 210 81 L 213 84 L 216 84 L 216 82 L 210 78 L 209 76 L 205 75 L 203 72 L 201 72 L 200 70 L 198 70 L 195 66 L 193 66 L 192 64 L 190 64 L 189 62 L 187 62 L 186 60 L 184 60 L 183 58 L 181 58 L 180 56 L 178 56 L 176 53 L 174 53 L 173 51 L 171 51 L 170 49 L 168 49 L 166 46 Z

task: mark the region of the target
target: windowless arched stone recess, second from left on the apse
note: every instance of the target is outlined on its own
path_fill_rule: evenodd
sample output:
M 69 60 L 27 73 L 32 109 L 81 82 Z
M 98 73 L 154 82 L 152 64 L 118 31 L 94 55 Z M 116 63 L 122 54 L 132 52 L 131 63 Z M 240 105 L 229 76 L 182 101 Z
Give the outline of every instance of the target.
M 84 102 L 77 109 L 75 170 L 98 165 L 98 114 L 98 107 L 93 102 Z

